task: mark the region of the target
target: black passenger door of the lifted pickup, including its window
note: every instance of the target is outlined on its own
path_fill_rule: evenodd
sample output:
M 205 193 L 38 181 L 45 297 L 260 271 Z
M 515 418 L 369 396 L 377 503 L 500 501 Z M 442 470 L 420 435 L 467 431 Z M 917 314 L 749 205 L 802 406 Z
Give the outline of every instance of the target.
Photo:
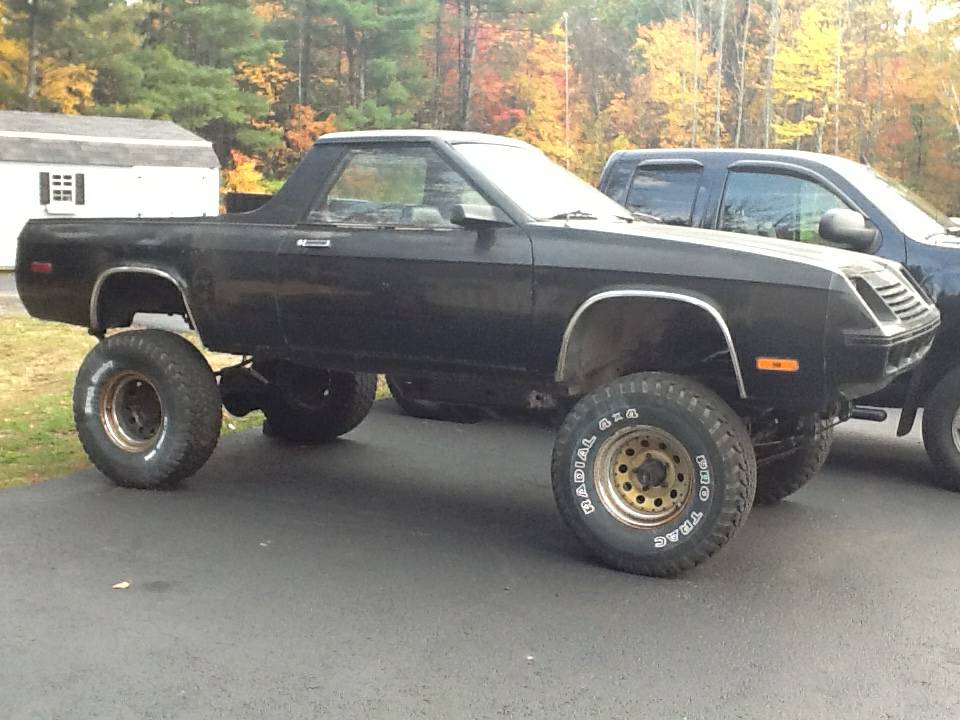
M 454 225 L 458 204 L 489 203 L 428 143 L 349 150 L 280 250 L 288 345 L 371 369 L 522 368 L 530 239 Z

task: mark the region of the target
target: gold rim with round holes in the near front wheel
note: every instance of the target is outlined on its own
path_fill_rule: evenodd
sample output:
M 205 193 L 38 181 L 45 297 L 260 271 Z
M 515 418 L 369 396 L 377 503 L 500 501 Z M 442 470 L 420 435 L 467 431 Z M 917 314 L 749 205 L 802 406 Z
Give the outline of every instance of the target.
M 693 497 L 693 459 L 673 435 L 649 425 L 624 428 L 604 441 L 594 465 L 600 502 L 629 527 L 676 519 Z

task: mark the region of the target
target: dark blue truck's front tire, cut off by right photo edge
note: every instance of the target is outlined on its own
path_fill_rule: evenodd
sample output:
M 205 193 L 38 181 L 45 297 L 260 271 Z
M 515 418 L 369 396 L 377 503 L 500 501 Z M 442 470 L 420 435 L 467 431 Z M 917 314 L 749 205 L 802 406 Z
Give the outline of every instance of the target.
M 960 490 L 960 368 L 951 370 L 927 394 L 923 408 L 923 446 L 933 462 L 937 480 Z

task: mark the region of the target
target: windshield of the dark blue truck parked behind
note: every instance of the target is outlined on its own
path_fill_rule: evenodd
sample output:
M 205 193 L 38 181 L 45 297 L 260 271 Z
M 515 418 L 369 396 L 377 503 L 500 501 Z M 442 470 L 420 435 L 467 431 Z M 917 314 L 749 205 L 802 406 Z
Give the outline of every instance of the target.
M 852 168 L 850 181 L 905 235 L 923 240 L 942 235 L 956 224 L 929 201 L 896 180 L 884 177 L 866 165 L 854 163 Z

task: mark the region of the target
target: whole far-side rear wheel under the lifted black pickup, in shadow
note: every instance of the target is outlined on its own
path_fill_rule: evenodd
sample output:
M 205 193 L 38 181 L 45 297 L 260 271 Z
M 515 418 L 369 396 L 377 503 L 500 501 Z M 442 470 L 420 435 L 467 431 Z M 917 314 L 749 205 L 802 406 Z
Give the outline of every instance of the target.
M 292 363 L 256 368 L 274 387 L 263 408 L 263 433 L 289 442 L 322 443 L 350 432 L 370 412 L 377 393 L 377 376 L 371 373 Z

